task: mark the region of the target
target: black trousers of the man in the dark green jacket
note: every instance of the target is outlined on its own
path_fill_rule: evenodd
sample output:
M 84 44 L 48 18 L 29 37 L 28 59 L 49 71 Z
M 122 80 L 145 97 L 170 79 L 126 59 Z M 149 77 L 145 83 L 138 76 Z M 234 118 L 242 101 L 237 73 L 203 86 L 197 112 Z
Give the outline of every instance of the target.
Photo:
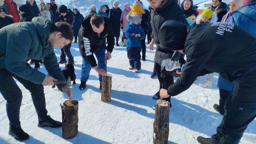
M 41 121 L 46 120 L 47 110 L 43 85 L 22 79 L 10 73 L 5 68 L 1 68 L 0 73 L 0 92 L 6 100 L 6 113 L 9 118 L 10 125 L 16 126 L 20 124 L 20 107 L 22 101 L 21 89 L 14 81 L 14 78 L 30 91 L 38 119 Z

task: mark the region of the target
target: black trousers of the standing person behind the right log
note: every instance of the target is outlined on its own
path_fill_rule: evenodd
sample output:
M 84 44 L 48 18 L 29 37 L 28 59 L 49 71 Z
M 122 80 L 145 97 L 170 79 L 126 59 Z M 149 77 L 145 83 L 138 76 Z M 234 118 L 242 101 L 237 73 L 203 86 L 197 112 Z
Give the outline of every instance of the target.
M 156 71 L 156 75 L 158 77 L 160 88 L 163 87 L 164 89 L 167 90 L 170 87 L 170 85 L 174 83 L 173 76 L 169 74 L 165 74 L 165 77 L 161 78 L 161 65 L 155 62 L 154 68 Z M 171 103 L 171 97 L 164 98 L 163 100 L 169 101 Z

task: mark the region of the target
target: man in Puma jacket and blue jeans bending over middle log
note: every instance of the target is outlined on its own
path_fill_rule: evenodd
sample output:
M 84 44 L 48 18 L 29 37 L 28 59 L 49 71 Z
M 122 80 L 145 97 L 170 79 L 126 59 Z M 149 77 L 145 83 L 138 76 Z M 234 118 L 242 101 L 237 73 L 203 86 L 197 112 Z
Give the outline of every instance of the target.
M 106 38 L 108 41 L 107 46 Z M 78 33 L 78 45 L 83 59 L 79 89 L 85 90 L 91 68 L 94 68 L 99 73 L 101 89 L 102 76 L 107 74 L 105 56 L 107 60 L 110 60 L 111 52 L 114 48 L 114 35 L 110 19 L 95 14 L 87 15 Z M 106 50 L 107 53 L 105 54 Z M 98 65 L 93 54 L 97 57 Z

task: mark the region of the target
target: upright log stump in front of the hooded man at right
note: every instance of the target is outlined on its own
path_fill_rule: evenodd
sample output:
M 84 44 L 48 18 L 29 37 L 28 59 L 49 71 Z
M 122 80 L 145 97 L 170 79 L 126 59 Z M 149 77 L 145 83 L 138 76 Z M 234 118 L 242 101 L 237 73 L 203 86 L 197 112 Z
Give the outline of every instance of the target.
M 169 136 L 169 113 L 170 103 L 165 100 L 159 100 L 156 102 L 155 107 L 155 121 L 153 124 L 154 144 L 167 144 Z

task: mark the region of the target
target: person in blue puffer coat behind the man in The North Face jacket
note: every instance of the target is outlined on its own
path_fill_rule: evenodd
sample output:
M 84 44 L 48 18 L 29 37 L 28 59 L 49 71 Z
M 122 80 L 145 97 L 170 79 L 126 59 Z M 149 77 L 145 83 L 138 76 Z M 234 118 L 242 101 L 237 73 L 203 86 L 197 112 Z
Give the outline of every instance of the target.
M 250 34 L 256 37 L 256 0 L 243 0 L 244 6 L 239 7 L 236 13 L 234 13 L 230 18 L 228 23 L 235 24 L 247 30 Z M 223 21 L 226 22 L 226 21 Z M 220 93 L 219 105 L 214 104 L 213 107 L 220 114 L 224 114 L 224 106 L 226 99 L 233 89 L 234 82 L 229 82 L 219 75 L 218 88 Z

